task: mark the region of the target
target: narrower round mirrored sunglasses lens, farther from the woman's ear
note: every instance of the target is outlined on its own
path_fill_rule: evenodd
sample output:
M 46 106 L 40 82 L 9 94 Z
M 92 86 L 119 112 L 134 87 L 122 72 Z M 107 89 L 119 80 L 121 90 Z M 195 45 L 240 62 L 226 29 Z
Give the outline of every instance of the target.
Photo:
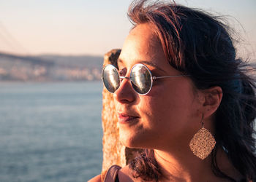
M 113 65 L 105 66 L 102 79 L 106 89 L 111 93 L 115 92 L 120 85 L 118 70 Z

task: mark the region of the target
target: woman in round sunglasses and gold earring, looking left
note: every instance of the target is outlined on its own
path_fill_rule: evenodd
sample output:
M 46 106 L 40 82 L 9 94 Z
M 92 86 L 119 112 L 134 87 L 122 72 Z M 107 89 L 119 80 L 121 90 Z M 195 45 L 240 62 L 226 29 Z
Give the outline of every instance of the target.
M 128 15 L 118 68 L 102 76 L 121 142 L 145 151 L 91 181 L 256 181 L 255 82 L 228 28 L 175 3 L 135 1 Z

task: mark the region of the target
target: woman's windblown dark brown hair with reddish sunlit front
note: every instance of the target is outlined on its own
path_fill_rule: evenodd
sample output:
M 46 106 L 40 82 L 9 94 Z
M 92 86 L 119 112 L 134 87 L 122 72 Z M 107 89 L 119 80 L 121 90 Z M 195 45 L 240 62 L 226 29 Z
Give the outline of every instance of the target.
M 174 2 L 133 1 L 128 16 L 135 26 L 149 23 L 154 27 L 170 66 L 189 74 L 197 89 L 222 88 L 214 122 L 217 144 L 211 153 L 211 169 L 221 178 L 236 181 L 219 170 L 217 149 L 222 147 L 241 175 L 256 181 L 255 81 L 246 75 L 254 69 L 236 58 L 229 28 L 220 17 Z M 136 178 L 158 181 L 163 177 L 152 149 L 145 149 L 130 166 Z

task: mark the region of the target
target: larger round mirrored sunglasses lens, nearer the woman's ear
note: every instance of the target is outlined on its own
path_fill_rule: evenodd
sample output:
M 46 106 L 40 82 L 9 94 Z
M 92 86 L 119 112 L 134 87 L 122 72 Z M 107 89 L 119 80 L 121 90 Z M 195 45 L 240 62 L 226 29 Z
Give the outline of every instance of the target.
M 146 66 L 135 65 L 132 68 L 130 79 L 136 92 L 146 95 L 151 90 L 151 73 Z

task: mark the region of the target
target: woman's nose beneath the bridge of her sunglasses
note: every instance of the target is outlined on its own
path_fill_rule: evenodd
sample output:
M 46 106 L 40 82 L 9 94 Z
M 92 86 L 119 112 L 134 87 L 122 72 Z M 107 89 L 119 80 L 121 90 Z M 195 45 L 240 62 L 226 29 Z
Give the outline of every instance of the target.
M 132 103 L 135 101 L 137 93 L 132 88 L 132 84 L 129 82 L 129 78 L 125 77 L 121 83 L 118 90 L 114 92 L 114 99 L 119 103 Z

